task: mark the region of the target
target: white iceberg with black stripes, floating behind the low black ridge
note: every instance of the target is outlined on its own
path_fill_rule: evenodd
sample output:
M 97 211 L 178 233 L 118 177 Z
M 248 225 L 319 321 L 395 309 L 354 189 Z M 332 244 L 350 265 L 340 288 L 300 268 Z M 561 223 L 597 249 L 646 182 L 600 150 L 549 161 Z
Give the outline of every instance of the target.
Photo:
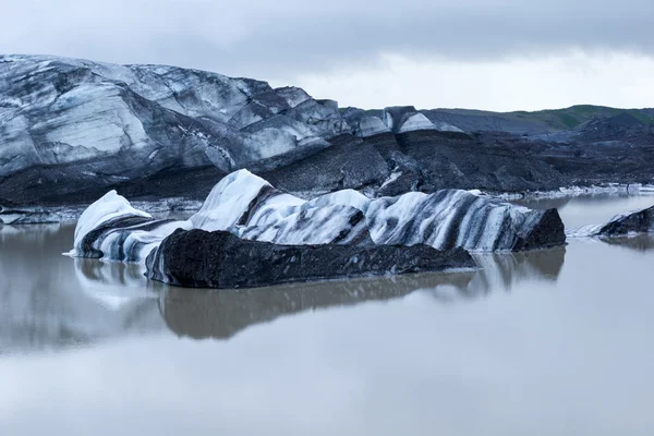
M 494 252 L 565 243 L 556 209 L 530 210 L 459 190 L 382 198 L 343 190 L 305 201 L 239 170 L 223 178 L 187 221 L 154 220 L 110 192 L 83 214 L 71 254 L 143 262 L 177 229 L 289 245 L 427 244 Z

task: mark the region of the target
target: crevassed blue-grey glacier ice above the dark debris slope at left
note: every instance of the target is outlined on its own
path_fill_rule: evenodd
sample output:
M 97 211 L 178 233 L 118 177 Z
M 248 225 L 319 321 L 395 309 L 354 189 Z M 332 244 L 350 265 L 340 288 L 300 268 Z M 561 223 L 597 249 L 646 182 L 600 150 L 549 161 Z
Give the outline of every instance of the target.
M 0 56 L 0 178 L 77 161 L 126 179 L 180 164 L 227 173 L 349 132 L 337 106 L 197 70 Z

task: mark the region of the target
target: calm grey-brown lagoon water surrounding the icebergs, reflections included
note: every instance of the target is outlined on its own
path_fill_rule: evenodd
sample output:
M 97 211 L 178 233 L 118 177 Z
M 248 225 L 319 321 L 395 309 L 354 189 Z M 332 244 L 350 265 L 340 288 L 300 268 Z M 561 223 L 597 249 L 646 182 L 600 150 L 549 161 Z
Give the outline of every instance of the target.
M 654 238 L 207 292 L 63 257 L 72 232 L 0 228 L 0 435 L 654 434 Z

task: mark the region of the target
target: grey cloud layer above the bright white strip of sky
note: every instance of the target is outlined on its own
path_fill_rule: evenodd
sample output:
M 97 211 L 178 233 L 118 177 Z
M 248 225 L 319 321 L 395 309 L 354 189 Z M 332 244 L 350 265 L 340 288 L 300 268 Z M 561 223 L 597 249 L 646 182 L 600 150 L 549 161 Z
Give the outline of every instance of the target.
M 651 0 L 10 0 L 0 51 L 167 63 L 292 82 L 379 53 L 486 60 L 557 50 L 654 55 Z

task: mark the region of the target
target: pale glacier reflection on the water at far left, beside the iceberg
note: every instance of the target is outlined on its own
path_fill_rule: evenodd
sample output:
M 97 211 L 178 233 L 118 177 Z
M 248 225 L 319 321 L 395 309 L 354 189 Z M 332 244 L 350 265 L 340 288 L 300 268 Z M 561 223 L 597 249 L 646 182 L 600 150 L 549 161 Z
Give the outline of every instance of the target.
M 0 353 L 165 328 L 152 296 L 125 292 L 129 299 L 111 305 L 97 296 L 98 282 L 78 280 L 73 262 L 60 254 L 72 233 L 66 226 L 0 227 Z

